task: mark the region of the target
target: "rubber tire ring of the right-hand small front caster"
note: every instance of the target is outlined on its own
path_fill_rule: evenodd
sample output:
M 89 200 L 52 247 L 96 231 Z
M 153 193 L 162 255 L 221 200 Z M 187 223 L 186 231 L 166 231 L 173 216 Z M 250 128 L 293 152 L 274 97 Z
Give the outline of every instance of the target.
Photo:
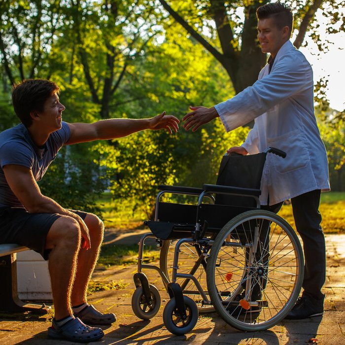
M 184 300 L 185 307 L 190 309 L 189 315 L 191 319 L 186 326 L 178 327 L 173 323 L 172 316 L 176 307 L 176 301 L 174 297 L 166 304 L 163 311 L 164 325 L 167 327 L 167 330 L 170 333 L 173 333 L 176 336 L 181 336 L 183 334 L 190 332 L 197 324 L 198 316 L 199 316 L 198 307 L 196 303 L 187 296 L 183 296 L 183 300 Z

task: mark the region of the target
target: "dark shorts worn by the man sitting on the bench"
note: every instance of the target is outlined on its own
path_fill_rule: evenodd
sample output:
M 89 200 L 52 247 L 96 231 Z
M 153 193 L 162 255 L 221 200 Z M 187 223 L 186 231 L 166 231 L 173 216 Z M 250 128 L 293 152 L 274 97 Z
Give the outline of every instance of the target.
M 87 213 L 70 210 L 82 219 Z M 23 207 L 0 208 L 0 244 L 18 243 L 35 250 L 48 260 L 50 250 L 45 240 L 53 223 L 61 217 L 58 213 L 29 213 Z

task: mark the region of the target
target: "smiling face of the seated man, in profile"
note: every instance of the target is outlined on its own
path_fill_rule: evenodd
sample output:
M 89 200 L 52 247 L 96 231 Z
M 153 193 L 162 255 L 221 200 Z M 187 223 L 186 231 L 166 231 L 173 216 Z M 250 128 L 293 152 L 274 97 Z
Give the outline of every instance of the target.
M 57 94 L 50 96 L 44 103 L 43 112 L 39 113 L 42 128 L 51 132 L 59 130 L 64 110 L 65 106 L 60 103 L 59 96 Z

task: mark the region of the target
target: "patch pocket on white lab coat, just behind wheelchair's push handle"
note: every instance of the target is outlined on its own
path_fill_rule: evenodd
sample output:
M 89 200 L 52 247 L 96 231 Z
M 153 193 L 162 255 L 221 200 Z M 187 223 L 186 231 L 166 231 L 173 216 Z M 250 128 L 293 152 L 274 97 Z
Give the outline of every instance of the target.
M 267 138 L 269 146 L 286 152 L 283 159 L 272 155 L 271 160 L 278 173 L 289 173 L 307 166 L 309 154 L 300 130 L 291 131 L 276 138 Z

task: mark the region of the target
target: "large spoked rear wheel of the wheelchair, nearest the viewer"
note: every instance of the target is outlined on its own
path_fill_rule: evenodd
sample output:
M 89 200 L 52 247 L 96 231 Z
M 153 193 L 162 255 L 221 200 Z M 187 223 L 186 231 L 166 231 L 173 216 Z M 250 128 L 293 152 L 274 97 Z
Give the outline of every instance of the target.
M 238 216 L 223 228 L 212 247 L 207 270 L 217 311 L 235 327 L 246 329 L 269 328 L 281 320 L 296 300 L 303 277 L 302 251 L 292 228 L 272 212 L 255 213 Z M 265 231 L 268 224 L 269 231 Z M 244 245 L 253 242 L 255 227 L 259 241 L 256 253 L 250 256 L 250 249 Z M 239 295 L 245 287 L 247 294 Z M 261 309 L 248 305 L 254 300 L 263 301 L 259 303 Z

